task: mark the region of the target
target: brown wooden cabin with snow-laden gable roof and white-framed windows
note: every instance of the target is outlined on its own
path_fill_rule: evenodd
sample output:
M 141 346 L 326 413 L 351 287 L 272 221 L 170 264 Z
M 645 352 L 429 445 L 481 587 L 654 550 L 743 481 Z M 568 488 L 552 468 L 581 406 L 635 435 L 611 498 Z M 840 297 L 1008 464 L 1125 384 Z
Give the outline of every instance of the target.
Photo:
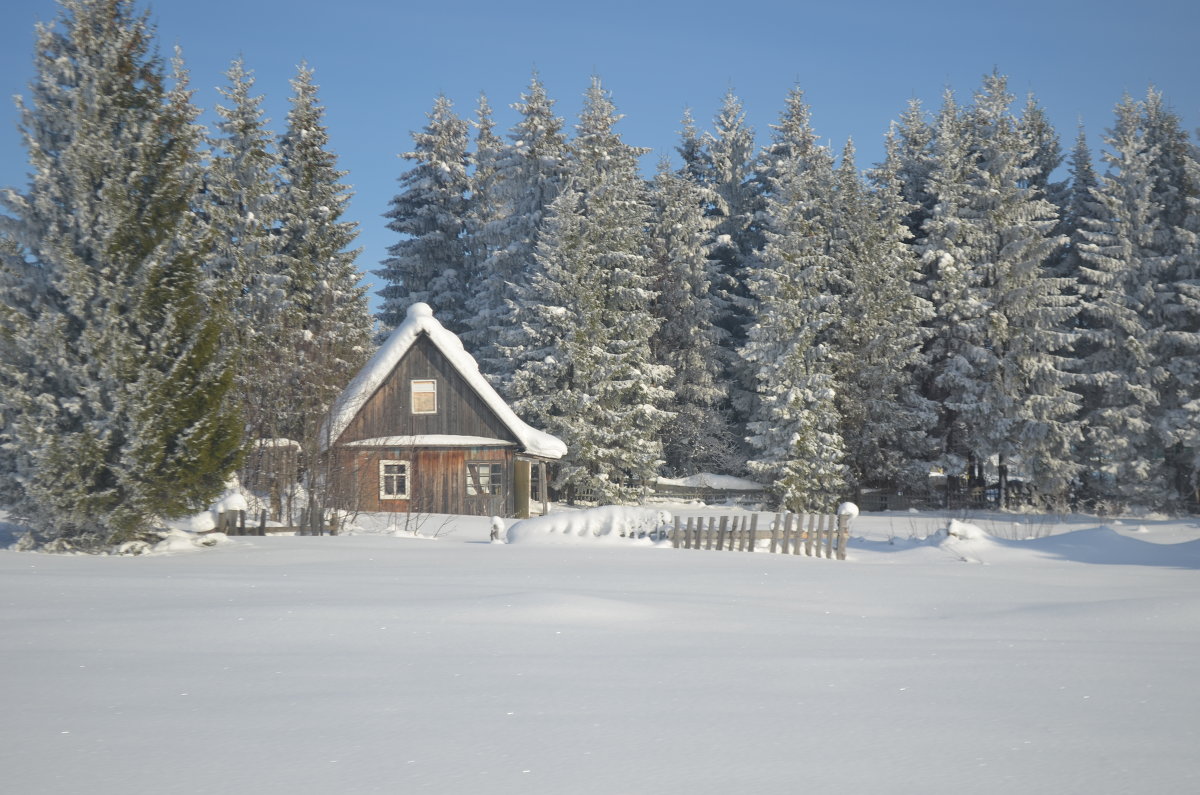
M 323 432 L 340 508 L 528 516 L 562 441 L 522 422 L 427 304 L 346 388 Z

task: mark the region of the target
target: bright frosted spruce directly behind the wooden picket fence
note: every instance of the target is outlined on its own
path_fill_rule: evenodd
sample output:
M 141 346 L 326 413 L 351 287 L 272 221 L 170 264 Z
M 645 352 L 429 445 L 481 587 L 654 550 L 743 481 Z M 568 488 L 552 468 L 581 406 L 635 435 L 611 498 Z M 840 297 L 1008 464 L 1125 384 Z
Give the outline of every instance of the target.
M 757 395 L 748 467 L 790 510 L 823 510 L 846 485 L 839 352 L 830 346 L 846 285 L 828 246 L 833 159 L 820 147 L 788 151 L 775 169 L 767 245 L 748 285 L 754 315 L 740 354 Z

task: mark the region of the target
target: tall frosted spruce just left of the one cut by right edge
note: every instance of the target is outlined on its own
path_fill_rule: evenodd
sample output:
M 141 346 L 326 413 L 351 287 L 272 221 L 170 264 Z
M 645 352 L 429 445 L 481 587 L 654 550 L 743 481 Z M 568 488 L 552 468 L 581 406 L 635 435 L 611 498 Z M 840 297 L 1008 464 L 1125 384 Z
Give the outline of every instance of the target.
M 1166 472 L 1162 400 L 1168 372 L 1158 315 L 1171 269 L 1154 201 L 1159 150 L 1142 106 L 1126 96 L 1105 138 L 1108 169 L 1080 219 L 1084 485 L 1094 503 L 1158 507 L 1175 496 Z

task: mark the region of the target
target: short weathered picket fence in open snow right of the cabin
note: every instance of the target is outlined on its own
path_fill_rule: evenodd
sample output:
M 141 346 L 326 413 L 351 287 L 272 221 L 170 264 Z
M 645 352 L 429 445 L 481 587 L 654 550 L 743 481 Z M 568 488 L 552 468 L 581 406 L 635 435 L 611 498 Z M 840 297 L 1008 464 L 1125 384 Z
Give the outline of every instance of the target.
M 766 531 L 758 514 L 746 516 L 674 518 L 671 545 L 676 549 L 714 549 L 754 552 L 760 548 L 782 555 L 846 560 L 850 516 L 824 514 L 775 514 Z M 769 540 L 769 545 L 768 542 Z

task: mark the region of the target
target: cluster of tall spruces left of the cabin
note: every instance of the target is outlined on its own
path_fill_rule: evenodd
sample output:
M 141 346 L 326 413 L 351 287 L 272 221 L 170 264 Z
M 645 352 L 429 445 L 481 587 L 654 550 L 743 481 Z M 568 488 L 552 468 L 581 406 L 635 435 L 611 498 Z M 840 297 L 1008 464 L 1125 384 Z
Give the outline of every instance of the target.
M 214 500 L 250 441 L 316 460 L 373 319 L 312 71 L 275 137 L 234 61 L 210 132 L 146 12 L 60 6 L 0 193 L 0 504 L 89 550 Z

